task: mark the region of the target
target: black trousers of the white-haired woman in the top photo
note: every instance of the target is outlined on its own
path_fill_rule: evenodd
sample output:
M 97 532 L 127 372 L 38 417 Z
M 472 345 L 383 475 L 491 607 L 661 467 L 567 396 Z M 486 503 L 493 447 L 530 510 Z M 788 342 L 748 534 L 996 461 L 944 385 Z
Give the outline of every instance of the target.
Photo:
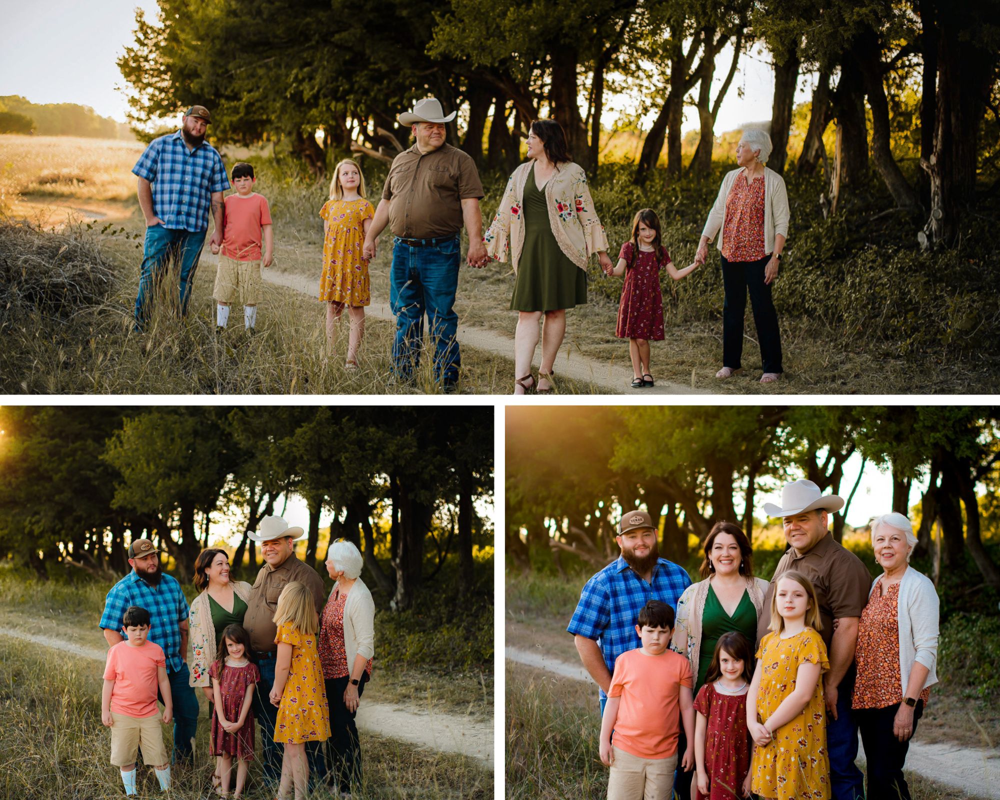
M 782 372 L 781 331 L 778 313 L 771 300 L 772 284 L 764 283 L 764 268 L 770 256 L 758 261 L 726 261 L 722 258 L 722 366 L 743 366 L 743 320 L 746 317 L 747 293 L 753 308 L 753 322 L 760 340 L 760 358 L 764 372 Z

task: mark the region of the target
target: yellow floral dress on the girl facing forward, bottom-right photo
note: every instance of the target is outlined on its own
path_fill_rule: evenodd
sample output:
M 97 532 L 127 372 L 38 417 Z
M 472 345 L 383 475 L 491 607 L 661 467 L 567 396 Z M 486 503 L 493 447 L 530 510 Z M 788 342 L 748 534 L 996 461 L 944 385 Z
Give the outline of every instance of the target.
M 760 642 L 761 664 L 757 692 L 757 719 L 767 722 L 781 701 L 795 689 L 800 664 L 819 664 L 820 674 L 830 669 L 826 644 L 812 628 L 782 639 L 767 634 Z M 812 698 L 802 713 L 775 731 L 774 741 L 757 747 L 750 764 L 753 792 L 778 800 L 829 800 L 830 762 L 826 753 L 826 707 L 823 682 L 816 682 Z

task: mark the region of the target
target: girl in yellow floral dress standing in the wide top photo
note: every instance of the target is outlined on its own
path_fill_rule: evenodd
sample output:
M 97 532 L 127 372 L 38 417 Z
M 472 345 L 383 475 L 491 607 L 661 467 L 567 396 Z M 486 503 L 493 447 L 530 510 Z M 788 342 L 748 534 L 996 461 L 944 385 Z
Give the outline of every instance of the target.
M 333 352 L 337 322 L 347 308 L 351 333 L 347 369 L 357 369 L 358 348 L 365 334 L 365 306 L 371 303 L 368 262 L 361 251 L 375 209 L 365 200 L 365 176 L 355 161 L 345 158 L 333 170 L 330 199 L 323 204 L 323 274 L 319 299 L 326 303 L 326 339 Z

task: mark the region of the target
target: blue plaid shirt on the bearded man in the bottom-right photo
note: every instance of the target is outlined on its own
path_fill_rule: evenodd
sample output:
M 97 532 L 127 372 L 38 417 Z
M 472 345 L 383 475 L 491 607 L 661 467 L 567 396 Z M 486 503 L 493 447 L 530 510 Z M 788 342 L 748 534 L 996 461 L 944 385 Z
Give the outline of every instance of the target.
M 650 600 L 662 600 L 676 611 L 690 585 L 687 571 L 665 558 L 656 562 L 648 583 L 619 556 L 587 581 L 566 630 L 596 640 L 608 672 L 614 675 L 618 656 L 642 646 L 635 632 L 642 607 Z M 605 697 L 603 689 L 600 695 Z

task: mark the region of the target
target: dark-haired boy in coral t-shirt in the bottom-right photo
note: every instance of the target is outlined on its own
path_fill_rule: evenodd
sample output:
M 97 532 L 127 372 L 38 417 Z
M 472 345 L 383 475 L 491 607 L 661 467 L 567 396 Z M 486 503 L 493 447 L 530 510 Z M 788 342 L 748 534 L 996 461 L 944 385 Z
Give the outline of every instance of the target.
M 642 647 L 615 661 L 601 720 L 601 761 L 611 767 L 608 800 L 673 796 L 678 706 L 688 742 L 681 769 L 694 767 L 694 680 L 688 660 L 668 649 L 674 610 L 650 600 L 638 622 Z

